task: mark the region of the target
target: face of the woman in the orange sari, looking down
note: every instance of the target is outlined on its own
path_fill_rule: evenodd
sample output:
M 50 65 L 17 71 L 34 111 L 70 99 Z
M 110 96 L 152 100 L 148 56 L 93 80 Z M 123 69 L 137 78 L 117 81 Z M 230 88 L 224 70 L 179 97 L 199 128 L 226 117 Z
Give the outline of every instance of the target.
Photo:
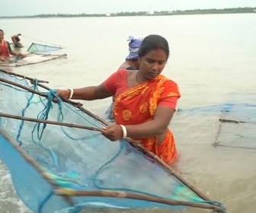
M 165 68 L 167 55 L 163 49 L 152 49 L 140 58 L 139 72 L 145 80 L 152 80 Z

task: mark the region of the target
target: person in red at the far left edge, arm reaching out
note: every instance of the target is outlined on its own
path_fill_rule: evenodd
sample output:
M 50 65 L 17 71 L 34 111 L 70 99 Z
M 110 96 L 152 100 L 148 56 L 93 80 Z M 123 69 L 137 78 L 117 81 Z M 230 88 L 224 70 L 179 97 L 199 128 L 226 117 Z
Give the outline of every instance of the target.
M 21 59 L 24 59 L 25 57 L 23 54 L 14 52 L 11 49 L 10 43 L 4 40 L 4 30 L 0 30 L 0 61 L 6 62 L 10 55 L 21 57 Z

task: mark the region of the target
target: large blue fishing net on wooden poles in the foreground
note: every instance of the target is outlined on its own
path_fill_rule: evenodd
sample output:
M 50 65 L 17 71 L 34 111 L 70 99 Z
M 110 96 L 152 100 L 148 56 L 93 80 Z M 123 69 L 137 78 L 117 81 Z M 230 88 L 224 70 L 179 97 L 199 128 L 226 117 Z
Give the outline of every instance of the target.
M 0 72 L 0 157 L 31 211 L 196 207 L 225 212 L 138 142 L 109 141 L 100 132 L 107 124 L 103 119 L 79 103 L 53 103 L 53 90 L 21 77 Z

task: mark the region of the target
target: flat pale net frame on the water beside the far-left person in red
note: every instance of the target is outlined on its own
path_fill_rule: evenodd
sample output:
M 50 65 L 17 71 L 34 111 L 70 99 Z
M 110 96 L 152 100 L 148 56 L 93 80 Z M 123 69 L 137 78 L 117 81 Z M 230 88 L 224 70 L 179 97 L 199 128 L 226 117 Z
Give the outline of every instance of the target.
M 48 62 L 53 59 L 66 58 L 66 54 L 42 54 L 28 53 L 24 59 L 19 56 L 11 56 L 8 61 L 0 62 L 2 67 L 19 67 L 24 65 L 34 65 L 42 62 Z

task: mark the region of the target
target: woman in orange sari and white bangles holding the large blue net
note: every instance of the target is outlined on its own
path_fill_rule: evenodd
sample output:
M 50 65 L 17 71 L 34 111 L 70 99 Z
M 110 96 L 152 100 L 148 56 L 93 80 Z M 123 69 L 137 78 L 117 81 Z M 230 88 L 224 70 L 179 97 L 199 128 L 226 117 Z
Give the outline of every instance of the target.
M 168 41 L 149 35 L 139 48 L 139 70 L 120 69 L 98 86 L 56 90 L 62 99 L 97 100 L 115 96 L 114 120 L 101 132 L 110 141 L 133 138 L 167 164 L 178 159 L 168 128 L 181 94 L 178 84 L 162 75 L 168 61 Z

